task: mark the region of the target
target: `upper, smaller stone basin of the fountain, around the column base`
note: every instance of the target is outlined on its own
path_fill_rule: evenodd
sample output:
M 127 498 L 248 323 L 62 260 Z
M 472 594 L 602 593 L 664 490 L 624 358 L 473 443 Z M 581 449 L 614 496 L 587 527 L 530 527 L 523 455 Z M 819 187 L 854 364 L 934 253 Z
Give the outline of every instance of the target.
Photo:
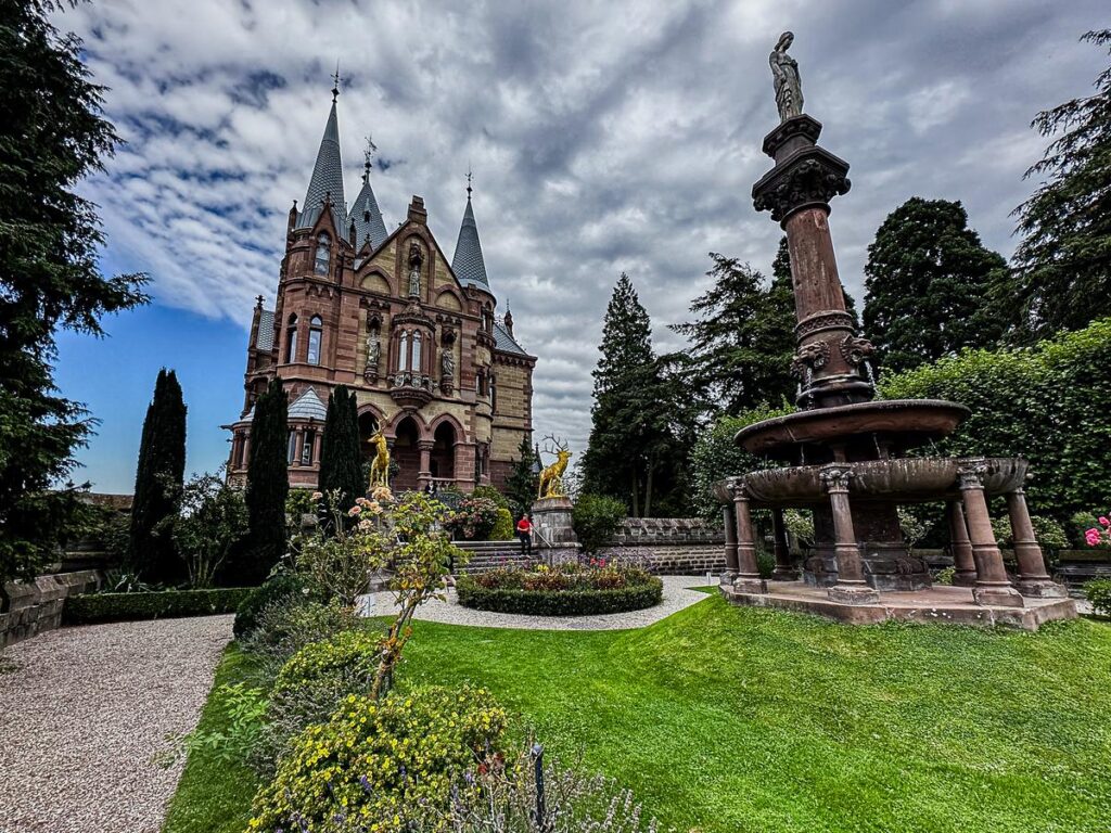
M 734 440 L 745 451 L 792 460 L 799 446 L 869 438 L 895 452 L 947 436 L 971 413 L 940 399 L 890 399 L 818 408 L 742 428 Z M 879 456 L 878 453 L 875 453 Z

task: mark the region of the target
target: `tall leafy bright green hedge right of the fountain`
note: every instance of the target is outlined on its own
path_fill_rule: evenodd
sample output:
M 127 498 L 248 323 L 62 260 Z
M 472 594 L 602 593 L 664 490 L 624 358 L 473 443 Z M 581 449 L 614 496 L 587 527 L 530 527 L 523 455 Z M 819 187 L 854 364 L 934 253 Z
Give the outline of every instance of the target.
M 970 350 L 884 378 L 887 399 L 947 399 L 972 415 L 930 453 L 1025 456 L 1034 514 L 1068 523 L 1111 494 L 1111 318 L 1034 348 Z

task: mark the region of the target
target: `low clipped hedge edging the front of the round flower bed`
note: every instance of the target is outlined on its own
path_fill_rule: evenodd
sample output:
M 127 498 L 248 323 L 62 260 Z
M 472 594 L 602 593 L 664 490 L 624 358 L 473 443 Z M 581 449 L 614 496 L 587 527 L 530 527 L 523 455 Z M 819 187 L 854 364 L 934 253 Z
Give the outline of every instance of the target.
M 507 590 L 482 588 L 470 575 L 459 578 L 456 590 L 464 608 L 533 616 L 589 616 L 624 613 L 659 604 L 663 582 L 652 576 L 645 584 L 612 590 Z

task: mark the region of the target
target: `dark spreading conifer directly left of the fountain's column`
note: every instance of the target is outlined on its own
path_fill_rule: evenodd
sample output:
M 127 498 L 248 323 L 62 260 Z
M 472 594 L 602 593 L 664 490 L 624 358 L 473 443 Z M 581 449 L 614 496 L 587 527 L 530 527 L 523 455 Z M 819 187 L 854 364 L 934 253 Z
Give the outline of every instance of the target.
M 710 253 L 713 285 L 695 298 L 695 321 L 672 324 L 691 348 L 684 375 L 711 413 L 737 413 L 794 393 L 794 295 L 785 238 L 768 281 L 735 258 Z

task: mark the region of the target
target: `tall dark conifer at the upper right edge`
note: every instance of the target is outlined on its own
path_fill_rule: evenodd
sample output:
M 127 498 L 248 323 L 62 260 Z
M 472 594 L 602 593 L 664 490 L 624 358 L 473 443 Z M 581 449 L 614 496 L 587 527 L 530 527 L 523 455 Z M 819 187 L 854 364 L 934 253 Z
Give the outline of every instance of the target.
M 1111 29 L 1082 41 L 1111 44 Z M 1017 340 L 1079 329 L 1103 314 L 1111 294 L 1111 67 L 1097 92 L 1034 118 L 1031 127 L 1055 137 L 1027 178 L 1042 183 L 1019 205 L 1015 275 L 1001 287 Z

